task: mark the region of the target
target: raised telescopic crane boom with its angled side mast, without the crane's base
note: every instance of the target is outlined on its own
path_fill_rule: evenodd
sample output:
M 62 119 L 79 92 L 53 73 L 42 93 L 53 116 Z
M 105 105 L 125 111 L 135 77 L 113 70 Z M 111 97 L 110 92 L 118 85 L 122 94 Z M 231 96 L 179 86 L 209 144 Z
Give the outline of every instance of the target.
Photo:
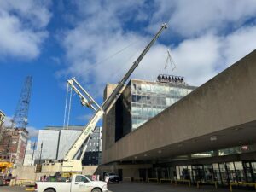
M 73 90 L 75 90 L 75 92 L 79 95 L 82 104 L 84 103 L 83 105 L 85 105 L 89 108 L 92 108 L 93 110 L 96 111 L 96 113 L 94 114 L 92 119 L 90 119 L 89 123 L 87 125 L 85 125 L 84 130 L 82 131 L 82 133 L 80 134 L 78 139 L 75 141 L 75 143 L 73 143 L 72 147 L 67 151 L 67 154 L 64 157 L 65 161 L 63 162 L 63 165 L 62 165 L 62 169 L 61 169 L 62 171 L 64 171 L 64 170 L 65 171 L 73 171 L 73 172 L 81 171 L 79 169 L 81 169 L 81 167 L 82 167 L 81 166 L 81 158 L 82 157 L 79 158 L 80 160 L 76 160 L 76 158 L 78 157 L 79 150 L 82 148 L 86 139 L 88 139 L 90 137 L 91 132 L 94 131 L 96 124 L 102 118 L 103 113 L 105 113 L 108 110 L 108 108 L 111 106 L 111 104 L 115 101 L 116 96 L 119 94 L 120 90 L 122 90 L 122 88 L 125 86 L 125 82 L 127 81 L 127 79 L 129 79 L 129 77 L 131 76 L 131 73 L 133 73 L 135 68 L 140 63 L 140 61 L 142 61 L 144 55 L 147 54 L 148 50 L 154 44 L 156 39 L 159 38 L 161 32 L 166 28 L 167 28 L 166 23 L 162 24 L 160 30 L 154 35 L 154 38 L 149 42 L 149 44 L 146 46 L 146 48 L 143 49 L 143 52 L 141 53 L 141 55 L 139 55 L 137 57 L 137 60 L 133 62 L 131 68 L 129 69 L 129 71 L 127 73 L 125 73 L 125 76 L 123 77 L 123 79 L 121 79 L 119 84 L 113 90 L 112 94 L 110 96 L 108 96 L 108 98 L 106 99 L 105 102 L 103 102 L 102 107 L 99 107 L 96 104 L 96 102 L 89 95 L 89 93 L 87 93 L 83 89 L 83 87 L 74 78 L 69 79 L 67 81 L 67 83 L 70 84 L 73 87 Z M 74 86 L 74 84 L 77 84 L 79 86 L 79 89 L 82 90 L 86 96 L 83 96 L 83 94 L 79 91 L 79 89 L 77 89 Z M 93 103 L 96 106 L 96 108 L 94 108 L 91 105 L 91 103 Z M 85 148 L 86 148 L 86 146 L 85 146 Z M 84 152 L 83 152 L 83 154 L 84 154 Z M 80 163 L 80 166 L 77 165 L 78 163 Z

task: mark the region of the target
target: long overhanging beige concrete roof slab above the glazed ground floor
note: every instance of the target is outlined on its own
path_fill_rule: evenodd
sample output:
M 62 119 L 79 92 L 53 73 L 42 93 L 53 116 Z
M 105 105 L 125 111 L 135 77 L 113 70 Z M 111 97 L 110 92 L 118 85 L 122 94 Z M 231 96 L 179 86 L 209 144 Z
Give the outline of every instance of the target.
M 255 141 L 256 50 L 114 143 L 102 160 L 154 160 Z

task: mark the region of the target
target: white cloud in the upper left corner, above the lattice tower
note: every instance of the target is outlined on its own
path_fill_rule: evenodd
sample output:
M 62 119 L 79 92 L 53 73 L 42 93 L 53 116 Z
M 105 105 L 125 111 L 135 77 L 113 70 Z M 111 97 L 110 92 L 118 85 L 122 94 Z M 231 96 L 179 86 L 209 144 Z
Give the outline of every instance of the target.
M 40 1 L 0 2 L 0 55 L 33 59 L 48 36 L 48 3 Z

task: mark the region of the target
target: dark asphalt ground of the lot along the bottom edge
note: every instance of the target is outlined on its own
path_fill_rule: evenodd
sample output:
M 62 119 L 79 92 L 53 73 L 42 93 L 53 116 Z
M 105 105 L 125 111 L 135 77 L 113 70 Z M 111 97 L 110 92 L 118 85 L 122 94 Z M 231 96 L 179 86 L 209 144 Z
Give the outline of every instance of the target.
M 108 184 L 108 189 L 111 192 L 230 192 L 229 189 L 218 188 L 215 189 L 212 186 L 202 186 L 197 189 L 195 186 L 185 185 L 171 185 L 171 184 L 159 184 L 159 183 L 118 183 Z M 0 186 L 1 192 L 24 192 L 25 188 L 22 187 L 3 187 Z M 249 192 L 255 190 L 241 190 L 234 189 L 233 192 Z

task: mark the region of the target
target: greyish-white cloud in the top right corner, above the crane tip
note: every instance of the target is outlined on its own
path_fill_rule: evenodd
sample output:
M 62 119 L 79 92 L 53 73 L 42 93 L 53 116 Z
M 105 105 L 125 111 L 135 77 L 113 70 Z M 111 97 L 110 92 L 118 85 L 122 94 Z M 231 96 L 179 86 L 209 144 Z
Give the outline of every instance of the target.
M 159 9 L 153 15 L 152 24 L 168 20 L 172 31 L 184 37 L 209 31 L 224 32 L 230 27 L 240 27 L 256 15 L 254 0 L 160 0 L 155 3 Z

